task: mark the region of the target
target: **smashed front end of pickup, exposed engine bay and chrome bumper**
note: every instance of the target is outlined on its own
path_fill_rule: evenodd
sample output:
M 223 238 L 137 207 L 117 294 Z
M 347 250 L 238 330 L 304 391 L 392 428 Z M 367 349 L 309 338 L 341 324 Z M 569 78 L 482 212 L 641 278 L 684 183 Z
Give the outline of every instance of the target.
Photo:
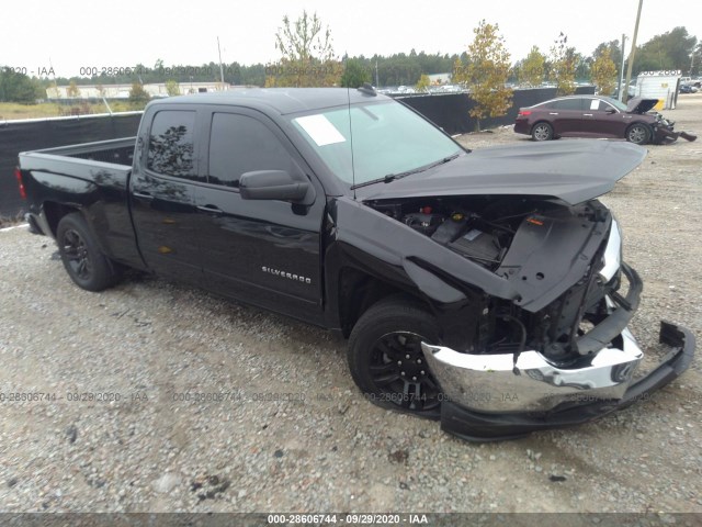
M 660 341 L 671 351 L 634 381 L 644 354 L 627 324 L 643 283 L 622 261 L 616 221 L 596 200 L 569 206 L 513 197 L 366 204 L 449 249 L 409 254 L 404 267 L 418 283 L 422 269 L 462 290 L 475 315 L 464 321 L 462 338 L 421 345 L 442 392 L 445 431 L 497 440 L 584 423 L 665 385 L 692 360 L 693 336 L 664 322 Z M 488 271 L 501 287 L 465 269 Z M 429 285 L 426 293 L 432 294 Z

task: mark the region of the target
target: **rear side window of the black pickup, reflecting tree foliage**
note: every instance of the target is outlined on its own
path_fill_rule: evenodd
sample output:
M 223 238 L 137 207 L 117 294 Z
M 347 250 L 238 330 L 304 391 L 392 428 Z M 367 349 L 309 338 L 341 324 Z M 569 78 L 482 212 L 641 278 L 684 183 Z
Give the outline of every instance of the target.
M 146 166 L 165 176 L 197 179 L 193 156 L 195 112 L 158 112 L 151 123 Z

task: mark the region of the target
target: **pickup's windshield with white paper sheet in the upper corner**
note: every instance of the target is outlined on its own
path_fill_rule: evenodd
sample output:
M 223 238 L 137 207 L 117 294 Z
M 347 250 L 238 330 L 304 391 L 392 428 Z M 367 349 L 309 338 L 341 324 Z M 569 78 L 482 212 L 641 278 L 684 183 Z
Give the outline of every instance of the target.
M 292 121 L 329 169 L 349 184 L 407 172 L 463 152 L 441 131 L 393 101 L 352 105 L 350 111 L 333 109 Z

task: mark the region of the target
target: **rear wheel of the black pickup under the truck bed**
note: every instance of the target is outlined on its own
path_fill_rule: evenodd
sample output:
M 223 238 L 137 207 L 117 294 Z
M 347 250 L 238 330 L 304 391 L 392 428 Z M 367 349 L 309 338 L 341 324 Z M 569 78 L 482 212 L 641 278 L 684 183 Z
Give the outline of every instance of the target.
M 58 253 L 66 272 L 87 291 L 102 291 L 120 281 L 121 273 L 105 257 L 79 213 L 67 214 L 56 228 Z

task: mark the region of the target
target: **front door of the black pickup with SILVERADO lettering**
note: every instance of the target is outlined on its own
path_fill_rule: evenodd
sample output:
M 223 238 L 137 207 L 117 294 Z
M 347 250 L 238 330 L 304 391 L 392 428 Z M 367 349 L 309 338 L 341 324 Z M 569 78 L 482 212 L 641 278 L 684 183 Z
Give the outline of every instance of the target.
M 297 318 L 321 321 L 324 189 L 263 114 L 222 106 L 210 112 L 207 122 L 207 184 L 197 203 L 207 287 Z M 315 186 L 314 204 L 241 199 L 239 178 L 254 170 L 306 175 Z

